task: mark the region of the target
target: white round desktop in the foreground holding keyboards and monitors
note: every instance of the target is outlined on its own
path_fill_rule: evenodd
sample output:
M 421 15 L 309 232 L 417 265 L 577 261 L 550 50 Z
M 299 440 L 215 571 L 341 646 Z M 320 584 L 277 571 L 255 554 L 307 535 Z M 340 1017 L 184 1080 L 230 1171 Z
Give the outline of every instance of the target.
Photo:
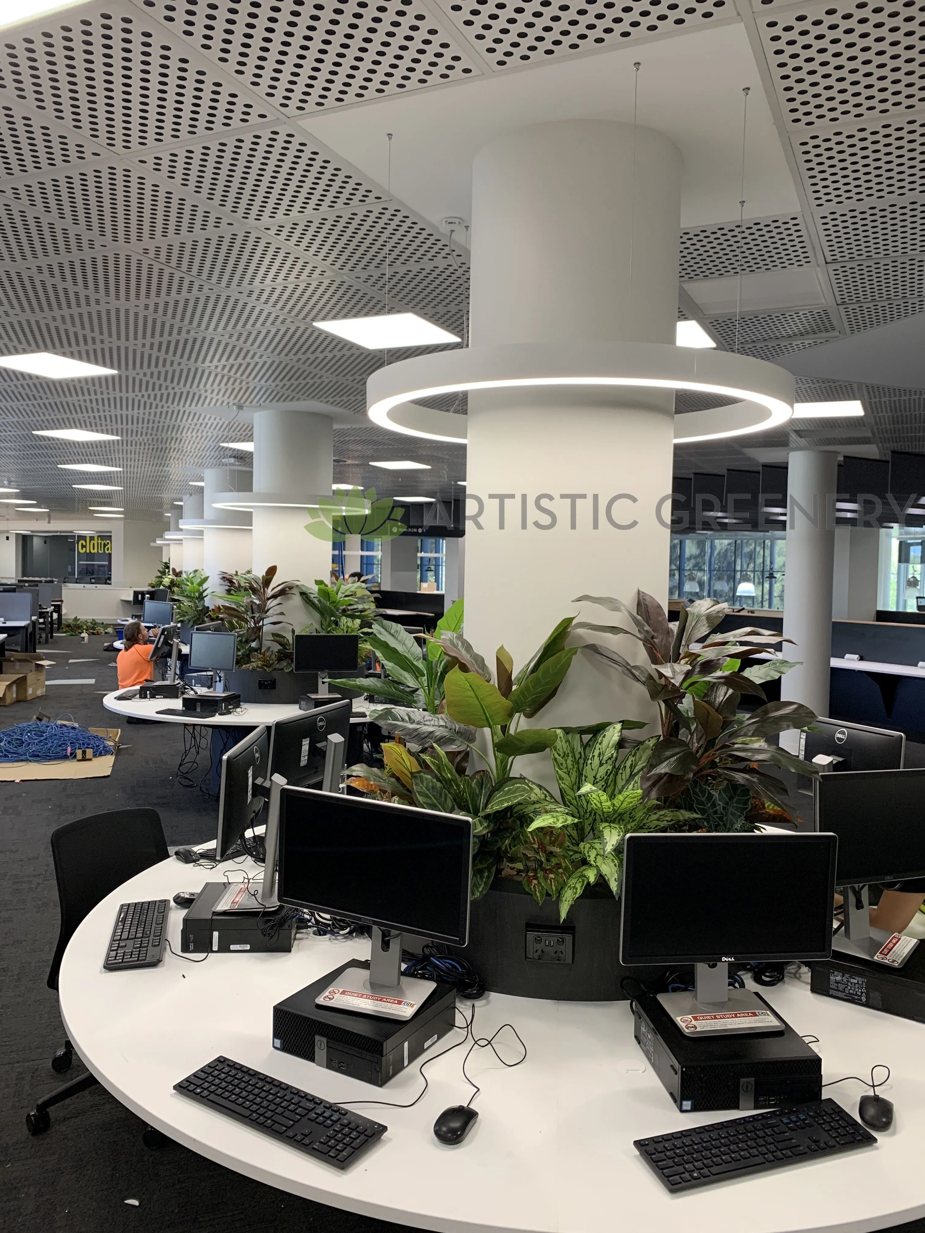
M 407 1102 L 422 1086 L 417 1065 L 374 1089 L 271 1047 L 274 1004 L 345 959 L 366 957 L 369 943 L 311 937 L 291 954 L 216 953 L 194 964 L 168 953 L 158 968 L 102 970 L 120 903 L 170 898 L 224 869 L 240 877 L 242 868 L 204 873 L 174 859 L 154 866 L 90 912 L 60 969 L 62 1016 L 89 1069 L 194 1152 L 306 1198 L 446 1233 L 867 1233 L 925 1215 L 925 1028 L 813 995 L 789 979 L 765 993 L 796 1031 L 819 1037 L 825 1080 L 868 1074 L 874 1062 L 892 1067 L 884 1091 L 895 1102 L 894 1124 L 877 1147 L 682 1195 L 665 1192 L 633 1139 L 726 1115 L 675 1111 L 633 1039 L 627 1002 L 488 995 L 477 1004 L 477 1032 L 490 1036 L 512 1022 L 528 1059 L 506 1070 L 488 1051 L 472 1054 L 467 1069 L 482 1091 L 465 1142 L 444 1147 L 432 1132 L 442 1110 L 469 1100 L 460 1048 L 428 1067 L 430 1089 L 413 1108 L 356 1106 L 388 1131 L 345 1173 L 185 1100 L 173 1085 L 220 1054 L 332 1101 Z M 171 906 L 174 949 L 181 916 Z M 506 1037 L 497 1042 L 502 1049 Z M 514 1060 L 518 1052 L 512 1041 L 506 1055 Z M 846 1083 L 826 1095 L 856 1115 L 863 1091 Z

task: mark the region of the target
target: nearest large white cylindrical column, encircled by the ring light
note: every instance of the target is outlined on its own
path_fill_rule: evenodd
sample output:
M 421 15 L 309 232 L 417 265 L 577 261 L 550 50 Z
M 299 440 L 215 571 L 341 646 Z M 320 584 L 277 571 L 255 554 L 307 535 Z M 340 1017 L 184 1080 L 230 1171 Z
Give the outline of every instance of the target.
M 672 143 L 623 123 L 535 125 L 486 147 L 472 179 L 471 346 L 673 343 L 680 185 Z M 523 663 L 582 593 L 634 603 L 639 588 L 666 603 L 659 502 L 672 450 L 670 392 L 470 393 L 465 630 L 490 661 L 503 642 Z M 619 647 L 640 658 L 628 639 Z M 644 690 L 578 657 L 538 723 L 652 714 Z

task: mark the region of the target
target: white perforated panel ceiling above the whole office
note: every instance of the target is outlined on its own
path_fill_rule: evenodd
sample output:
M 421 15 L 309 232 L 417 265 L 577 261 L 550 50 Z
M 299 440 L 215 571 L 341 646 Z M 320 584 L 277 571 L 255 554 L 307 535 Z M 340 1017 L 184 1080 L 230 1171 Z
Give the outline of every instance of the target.
M 512 125 L 629 118 L 634 60 L 640 122 L 684 155 L 680 312 L 728 349 L 809 353 L 803 398 L 867 409 L 862 429 L 804 422 L 755 445 L 925 451 L 925 393 L 890 383 L 890 332 L 863 339 L 863 371 L 837 342 L 925 311 L 924 10 L 91 0 L 4 31 L 0 351 L 118 375 L 0 371 L 0 480 L 84 509 L 92 498 L 57 464 L 122 466 L 116 503 L 154 517 L 227 456 L 229 417 L 247 418 L 236 407 L 322 402 L 352 425 L 335 430 L 335 478 L 382 490 L 369 460 L 411 456 L 433 467 L 418 491 L 448 491 L 465 451 L 370 425 L 364 386 L 381 358 L 311 322 L 384 311 L 388 236 L 390 307 L 458 330 L 465 252 L 437 222 L 466 216 L 474 153 Z M 812 351 L 829 343 L 820 367 Z M 36 427 L 122 440 L 49 443 Z M 754 466 L 747 445 L 705 443 L 676 465 Z

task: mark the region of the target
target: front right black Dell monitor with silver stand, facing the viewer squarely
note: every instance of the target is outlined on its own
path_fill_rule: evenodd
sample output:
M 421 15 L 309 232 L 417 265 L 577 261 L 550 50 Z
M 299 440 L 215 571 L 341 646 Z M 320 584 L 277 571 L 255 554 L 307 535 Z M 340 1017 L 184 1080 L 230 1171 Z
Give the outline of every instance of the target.
M 694 965 L 693 996 L 659 994 L 684 1036 L 781 1034 L 765 1002 L 728 988 L 728 963 L 831 954 L 836 845 L 821 834 L 628 835 L 620 962 Z

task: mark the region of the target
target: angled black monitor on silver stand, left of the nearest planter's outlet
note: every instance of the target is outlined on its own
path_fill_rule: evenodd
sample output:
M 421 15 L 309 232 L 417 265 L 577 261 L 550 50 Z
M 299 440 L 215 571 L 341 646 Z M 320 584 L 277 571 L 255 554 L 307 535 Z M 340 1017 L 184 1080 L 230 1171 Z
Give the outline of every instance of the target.
M 401 975 L 401 935 L 466 944 L 472 820 L 285 787 L 279 825 L 280 903 L 371 926 L 369 970 L 339 973 L 318 1004 L 411 1018 L 433 981 Z

